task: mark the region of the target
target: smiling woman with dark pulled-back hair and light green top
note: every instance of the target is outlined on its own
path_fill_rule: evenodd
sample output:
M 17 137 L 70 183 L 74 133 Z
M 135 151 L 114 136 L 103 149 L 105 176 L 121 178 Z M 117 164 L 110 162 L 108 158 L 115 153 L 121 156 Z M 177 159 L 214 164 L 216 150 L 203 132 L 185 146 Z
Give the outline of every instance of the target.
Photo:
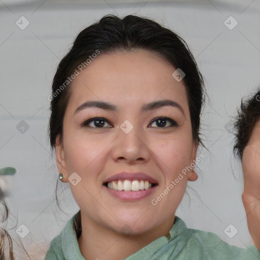
M 105 16 L 80 32 L 52 85 L 49 134 L 80 211 L 45 259 L 259 259 L 175 215 L 195 161 L 203 78 L 171 30 Z M 186 171 L 184 171 L 186 169 Z

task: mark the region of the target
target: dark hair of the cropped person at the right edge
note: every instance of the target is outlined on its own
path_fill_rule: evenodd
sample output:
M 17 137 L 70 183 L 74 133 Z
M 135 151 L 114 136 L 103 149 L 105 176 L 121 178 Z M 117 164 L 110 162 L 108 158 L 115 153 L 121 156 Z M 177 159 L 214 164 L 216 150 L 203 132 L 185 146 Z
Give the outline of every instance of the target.
M 234 153 L 240 160 L 258 120 L 260 120 L 260 87 L 256 93 L 241 100 L 240 110 L 235 120 Z

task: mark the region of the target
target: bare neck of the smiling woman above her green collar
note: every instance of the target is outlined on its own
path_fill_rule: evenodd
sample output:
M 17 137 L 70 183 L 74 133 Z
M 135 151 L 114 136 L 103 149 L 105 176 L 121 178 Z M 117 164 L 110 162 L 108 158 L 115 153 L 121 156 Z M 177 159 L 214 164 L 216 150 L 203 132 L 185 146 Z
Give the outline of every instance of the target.
M 159 237 L 167 236 L 174 216 L 154 229 L 138 235 L 124 236 L 94 222 L 81 212 L 82 233 L 78 239 L 82 256 L 88 260 L 121 260 Z

